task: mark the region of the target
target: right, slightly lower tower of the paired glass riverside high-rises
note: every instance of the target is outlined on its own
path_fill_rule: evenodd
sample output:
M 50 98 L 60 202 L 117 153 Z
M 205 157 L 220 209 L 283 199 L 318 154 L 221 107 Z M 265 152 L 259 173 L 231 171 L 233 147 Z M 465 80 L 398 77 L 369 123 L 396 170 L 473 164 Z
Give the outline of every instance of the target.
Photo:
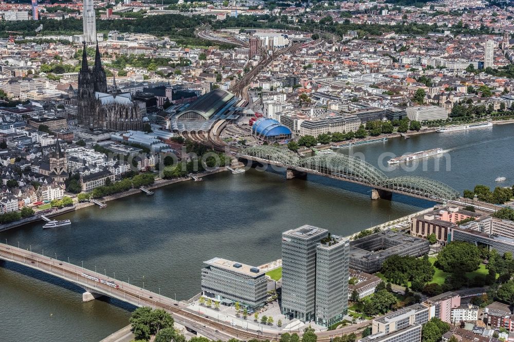
M 329 327 L 348 312 L 350 242 L 328 235 L 316 246 L 316 324 Z

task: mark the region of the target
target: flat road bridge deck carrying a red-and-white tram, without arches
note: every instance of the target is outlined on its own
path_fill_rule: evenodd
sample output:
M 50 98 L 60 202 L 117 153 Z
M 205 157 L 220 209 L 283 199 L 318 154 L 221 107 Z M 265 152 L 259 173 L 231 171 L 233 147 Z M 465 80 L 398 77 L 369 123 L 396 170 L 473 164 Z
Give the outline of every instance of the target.
M 0 261 L 6 260 L 17 264 L 24 265 L 34 270 L 50 274 L 52 276 L 64 279 L 94 295 L 104 295 L 116 298 L 121 301 L 131 303 L 137 307 L 151 307 L 154 309 L 164 309 L 170 312 L 175 321 L 192 331 L 206 336 L 212 340 L 227 341 L 232 337 L 248 340 L 252 338 L 278 340 L 280 335 L 269 331 L 258 333 L 251 329 L 243 329 L 242 327 L 233 327 L 201 315 L 198 312 L 188 308 L 186 303 L 173 300 L 171 298 L 161 296 L 149 290 L 142 289 L 133 284 L 120 281 L 101 273 L 84 269 L 78 265 L 60 261 L 48 256 L 27 251 L 5 243 L 0 243 Z M 112 288 L 106 284 L 90 280 L 81 276 L 86 273 L 99 279 L 115 282 L 119 288 Z M 350 327 L 324 331 L 318 333 L 318 341 L 329 341 L 333 336 L 341 336 L 341 334 L 359 332 L 370 324 L 370 321 L 361 322 Z

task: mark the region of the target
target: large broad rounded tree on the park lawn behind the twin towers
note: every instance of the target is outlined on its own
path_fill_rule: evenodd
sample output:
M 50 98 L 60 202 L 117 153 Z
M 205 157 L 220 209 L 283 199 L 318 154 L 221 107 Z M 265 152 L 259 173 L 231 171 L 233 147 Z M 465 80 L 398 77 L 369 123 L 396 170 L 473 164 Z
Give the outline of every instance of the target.
M 479 268 L 481 261 L 478 247 L 461 241 L 448 243 L 437 255 L 437 266 L 445 272 L 472 272 Z

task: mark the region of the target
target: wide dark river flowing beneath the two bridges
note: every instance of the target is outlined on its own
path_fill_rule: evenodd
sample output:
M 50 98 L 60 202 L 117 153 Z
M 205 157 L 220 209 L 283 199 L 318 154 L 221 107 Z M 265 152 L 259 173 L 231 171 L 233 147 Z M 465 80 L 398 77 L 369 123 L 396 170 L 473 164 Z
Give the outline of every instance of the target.
M 458 191 L 476 183 L 514 184 L 514 125 L 470 132 L 425 134 L 361 146 L 340 153 L 362 154 L 387 165 L 391 156 L 436 147 L 449 157 L 429 158 L 389 177 L 424 176 Z M 380 157 L 382 155 L 382 157 Z M 382 162 L 380 162 L 382 158 Z M 439 164 L 439 172 L 435 171 Z M 447 165 L 449 164 L 449 165 Z M 448 166 L 448 167 L 447 167 Z M 252 265 L 280 258 L 281 233 L 303 224 L 349 235 L 429 207 L 405 196 L 370 200 L 370 189 L 321 177 L 285 180 L 283 173 L 215 174 L 203 182 L 180 182 L 63 215 L 71 226 L 42 230 L 42 223 L 0 234 L 0 240 L 84 268 L 106 272 L 168 297 L 188 299 L 200 291 L 203 261 L 224 257 Z M 0 340 L 98 341 L 128 324 L 133 307 L 102 299 L 82 302 L 71 284 L 11 263 L 0 267 Z

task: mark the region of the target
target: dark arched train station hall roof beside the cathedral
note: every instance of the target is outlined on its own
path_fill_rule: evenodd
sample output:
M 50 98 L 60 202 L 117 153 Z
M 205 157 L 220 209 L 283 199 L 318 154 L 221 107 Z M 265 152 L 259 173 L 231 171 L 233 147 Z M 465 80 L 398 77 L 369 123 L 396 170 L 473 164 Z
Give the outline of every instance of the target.
M 223 89 L 215 89 L 187 106 L 176 116 L 177 119 L 209 120 L 234 103 L 234 94 Z

